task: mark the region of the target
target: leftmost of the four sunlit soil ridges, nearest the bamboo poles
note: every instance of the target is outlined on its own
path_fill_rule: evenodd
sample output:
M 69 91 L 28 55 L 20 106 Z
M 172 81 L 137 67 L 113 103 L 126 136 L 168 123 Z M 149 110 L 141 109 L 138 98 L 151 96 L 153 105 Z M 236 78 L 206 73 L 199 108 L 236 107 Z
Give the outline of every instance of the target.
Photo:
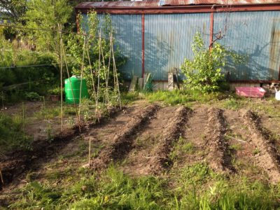
M 106 146 L 98 155 L 97 158 L 90 162 L 92 169 L 104 169 L 111 161 L 121 160 L 132 149 L 133 139 L 137 132 L 148 124 L 151 118 L 155 115 L 160 106 L 146 106 L 137 116 L 130 120 L 123 130 L 113 138 L 111 144 Z

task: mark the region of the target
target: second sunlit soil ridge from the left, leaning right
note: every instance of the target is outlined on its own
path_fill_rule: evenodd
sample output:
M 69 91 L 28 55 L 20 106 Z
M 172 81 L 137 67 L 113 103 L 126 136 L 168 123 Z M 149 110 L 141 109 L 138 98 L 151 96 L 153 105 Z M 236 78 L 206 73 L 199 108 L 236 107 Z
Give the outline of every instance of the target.
M 160 174 L 163 169 L 172 165 L 169 155 L 179 137 L 183 134 L 184 125 L 187 121 L 190 109 L 180 106 L 176 109 L 174 117 L 169 120 L 165 129 L 162 131 L 162 137 L 158 148 L 155 148 L 153 155 L 148 163 L 151 172 Z

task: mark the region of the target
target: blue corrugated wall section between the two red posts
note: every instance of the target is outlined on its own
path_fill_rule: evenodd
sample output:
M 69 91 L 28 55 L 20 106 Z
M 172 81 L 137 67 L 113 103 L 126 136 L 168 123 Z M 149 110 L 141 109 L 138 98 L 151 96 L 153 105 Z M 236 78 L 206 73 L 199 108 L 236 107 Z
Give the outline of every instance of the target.
M 209 45 L 209 27 L 210 13 L 145 15 L 145 72 L 154 80 L 167 80 L 167 73 L 180 69 L 185 57 L 193 58 L 197 31 Z

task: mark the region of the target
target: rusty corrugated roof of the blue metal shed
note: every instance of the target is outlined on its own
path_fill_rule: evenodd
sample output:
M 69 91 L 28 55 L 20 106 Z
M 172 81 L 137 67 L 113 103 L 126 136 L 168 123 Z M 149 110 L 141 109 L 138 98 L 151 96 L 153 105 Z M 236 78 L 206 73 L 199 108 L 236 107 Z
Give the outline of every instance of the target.
M 155 1 L 99 1 L 79 3 L 76 8 L 160 8 L 162 6 L 192 5 L 256 5 L 280 3 L 280 0 L 155 0 Z

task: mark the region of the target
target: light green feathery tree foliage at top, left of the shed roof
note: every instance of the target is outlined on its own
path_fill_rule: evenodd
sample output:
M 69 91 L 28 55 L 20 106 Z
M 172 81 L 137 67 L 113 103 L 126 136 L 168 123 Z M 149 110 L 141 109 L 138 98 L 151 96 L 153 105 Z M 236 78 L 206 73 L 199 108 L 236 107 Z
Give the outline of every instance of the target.
M 28 10 L 25 15 L 27 27 L 52 29 L 56 31 L 29 31 L 30 41 L 34 41 L 36 50 L 54 52 L 59 57 L 59 32 L 64 30 L 71 16 L 72 8 L 66 0 L 31 0 L 28 1 Z M 26 32 L 25 32 L 26 33 Z

